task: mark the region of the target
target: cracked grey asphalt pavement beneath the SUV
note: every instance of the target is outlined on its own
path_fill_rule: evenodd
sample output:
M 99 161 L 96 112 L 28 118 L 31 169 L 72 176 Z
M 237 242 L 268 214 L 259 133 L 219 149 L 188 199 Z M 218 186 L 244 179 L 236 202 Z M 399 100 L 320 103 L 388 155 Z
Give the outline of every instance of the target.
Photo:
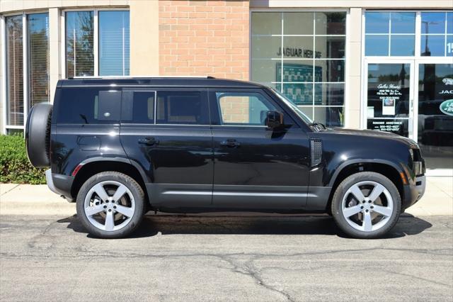
M 152 216 L 100 240 L 76 216 L 0 216 L 0 301 L 451 301 L 453 217 L 355 240 L 328 216 Z

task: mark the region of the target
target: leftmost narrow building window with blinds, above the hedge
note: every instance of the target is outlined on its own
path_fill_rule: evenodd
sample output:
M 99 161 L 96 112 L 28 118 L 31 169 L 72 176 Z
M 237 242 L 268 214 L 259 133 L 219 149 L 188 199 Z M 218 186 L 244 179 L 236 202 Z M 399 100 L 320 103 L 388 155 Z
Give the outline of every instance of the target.
M 5 18 L 6 123 L 23 125 L 23 22 L 22 15 Z

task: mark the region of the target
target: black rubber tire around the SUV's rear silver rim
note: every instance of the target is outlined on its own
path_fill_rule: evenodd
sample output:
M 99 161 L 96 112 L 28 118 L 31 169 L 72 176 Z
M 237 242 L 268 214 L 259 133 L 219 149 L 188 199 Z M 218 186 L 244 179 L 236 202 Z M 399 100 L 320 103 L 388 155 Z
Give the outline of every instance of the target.
M 90 190 L 95 186 L 96 184 L 100 184 L 103 181 L 116 181 L 120 184 L 123 184 L 129 189 L 130 193 L 133 196 L 134 199 L 134 213 L 132 217 L 130 218 L 130 221 L 122 227 L 120 230 L 101 230 L 100 228 L 97 228 L 95 225 L 93 225 L 90 220 L 88 219 L 88 216 L 86 215 L 85 212 L 85 198 L 87 194 L 90 192 Z M 110 195 L 110 194 L 109 194 Z M 110 195 L 111 197 L 111 195 Z M 110 201 L 111 205 L 112 201 Z M 101 172 L 98 174 L 93 175 L 90 177 L 85 183 L 81 186 L 81 189 L 79 190 L 79 194 L 77 194 L 77 200 L 76 200 L 76 208 L 77 208 L 77 216 L 79 217 L 82 225 L 88 230 L 88 233 L 90 233 L 93 236 L 100 237 L 100 238 L 122 238 L 126 237 L 127 235 L 130 235 L 141 223 L 142 218 L 145 213 L 145 198 L 144 198 L 144 191 L 142 187 L 137 183 L 137 181 L 134 181 L 131 177 L 127 176 L 126 174 L 122 174 L 120 172 Z M 108 205 L 108 203 L 106 203 Z M 107 210 L 105 210 L 107 211 Z M 105 212 L 106 213 L 106 212 Z M 115 213 L 115 210 L 113 210 L 113 217 L 117 215 Z M 102 214 L 102 213 L 101 213 Z M 101 215 L 100 214 L 100 215 Z M 106 215 L 106 214 L 104 214 Z M 116 219 L 116 218 L 115 218 Z M 115 220 L 115 223 L 117 220 Z

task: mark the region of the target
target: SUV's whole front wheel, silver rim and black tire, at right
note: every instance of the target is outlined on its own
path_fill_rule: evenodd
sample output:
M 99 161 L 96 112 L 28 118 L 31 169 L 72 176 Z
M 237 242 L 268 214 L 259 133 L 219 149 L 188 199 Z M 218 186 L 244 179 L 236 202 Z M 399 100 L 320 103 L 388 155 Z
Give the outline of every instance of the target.
M 390 179 L 375 172 L 352 174 L 333 195 L 333 218 L 352 237 L 381 237 L 394 227 L 400 213 L 398 189 Z

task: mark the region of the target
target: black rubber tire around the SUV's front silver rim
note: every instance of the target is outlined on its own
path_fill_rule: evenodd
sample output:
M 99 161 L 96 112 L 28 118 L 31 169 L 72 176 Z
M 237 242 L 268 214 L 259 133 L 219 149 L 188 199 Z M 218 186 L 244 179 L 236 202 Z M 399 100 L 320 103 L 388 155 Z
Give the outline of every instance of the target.
M 377 212 L 374 213 L 374 211 L 376 210 L 377 206 L 379 206 L 379 204 L 376 203 L 376 205 L 374 205 L 374 201 L 368 201 L 368 197 L 371 196 L 372 189 L 369 189 L 369 195 L 365 196 L 365 194 L 363 194 L 363 196 L 365 196 L 365 203 L 364 203 L 364 201 L 357 202 L 357 198 L 350 196 L 350 194 L 352 194 L 352 193 L 351 193 L 351 191 L 348 192 L 348 190 L 352 189 L 352 186 L 355 186 L 355 184 L 359 184 L 359 183 L 363 184 L 363 181 L 370 181 L 370 182 L 374 182 L 374 183 L 384 186 L 384 188 L 386 189 L 386 192 L 388 194 L 390 194 L 392 202 L 393 202 L 393 209 L 391 210 L 390 215 L 381 217 L 379 213 L 377 213 Z M 364 186 L 357 186 L 357 187 L 363 188 Z M 366 189 L 363 189 L 363 190 L 365 191 Z M 348 193 L 347 194 L 348 196 L 345 196 L 346 193 Z M 362 193 L 363 193 L 363 191 L 362 191 Z M 382 193 L 382 194 L 384 194 L 384 193 Z M 378 201 L 379 203 L 381 201 L 388 202 L 388 201 L 386 201 L 386 195 L 384 194 L 384 196 L 383 196 L 382 194 L 379 195 L 379 201 L 378 200 L 376 200 L 376 201 Z M 352 194 L 352 195 L 355 196 L 354 194 Z M 347 218 L 345 218 L 346 214 L 343 215 L 343 198 L 350 198 L 350 199 L 345 199 L 345 204 L 349 200 L 349 203 L 353 202 L 351 206 L 359 206 L 361 208 L 360 213 L 357 213 L 357 216 L 350 216 L 350 217 L 360 218 L 360 215 L 361 215 L 362 216 L 362 228 L 365 228 L 364 227 L 365 211 L 367 211 L 367 213 L 369 213 L 367 215 L 370 215 L 370 216 L 372 214 L 376 215 L 377 218 L 374 218 L 374 220 L 377 222 L 382 221 L 385 218 L 386 223 L 382 227 L 380 227 L 379 229 L 376 229 L 376 230 L 367 230 L 367 231 L 357 230 L 356 228 L 354 228 L 353 226 L 350 225 L 350 223 L 352 223 L 352 225 L 354 225 L 353 221 L 349 220 L 349 218 L 347 220 Z M 362 202 L 362 203 L 360 203 L 360 202 Z M 365 209 L 363 209 L 364 206 L 365 206 Z M 372 208 L 374 208 L 374 210 Z M 367 209 L 369 209 L 369 210 L 367 210 Z M 347 235 L 350 235 L 351 237 L 355 237 L 355 238 L 360 238 L 360 239 L 371 239 L 371 238 L 382 237 L 387 232 L 389 232 L 389 230 L 391 230 L 391 228 L 393 228 L 394 225 L 396 224 L 396 222 L 398 221 L 398 218 L 401 213 L 401 196 L 398 192 L 398 189 L 396 189 L 396 186 L 394 185 L 394 183 L 387 177 L 384 177 L 384 175 L 375 173 L 375 172 L 359 172 L 356 174 L 352 174 L 350 177 L 347 177 L 345 180 L 343 180 L 338 185 L 338 187 L 335 191 L 335 194 L 333 194 L 331 211 L 332 211 L 333 219 L 335 220 L 336 224 Z M 360 220 L 359 220 L 359 222 L 360 222 Z M 377 223 L 375 223 L 375 224 L 372 223 L 373 226 L 376 224 Z M 357 225 L 359 225 L 359 224 L 357 224 Z

